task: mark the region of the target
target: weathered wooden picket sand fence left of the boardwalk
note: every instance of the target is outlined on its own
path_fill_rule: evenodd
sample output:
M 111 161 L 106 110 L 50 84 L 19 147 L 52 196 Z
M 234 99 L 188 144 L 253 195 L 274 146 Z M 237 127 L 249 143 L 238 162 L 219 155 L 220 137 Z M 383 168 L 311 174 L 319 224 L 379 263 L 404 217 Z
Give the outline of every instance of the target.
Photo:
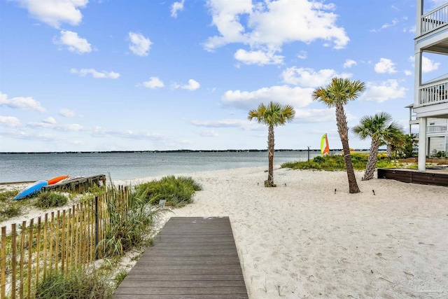
M 70 209 L 1 228 L 0 298 L 34 298 L 38 282 L 52 270 L 87 267 L 104 256 L 110 223 L 108 204 L 127 214 L 127 188 L 95 196 Z M 27 223 L 28 222 L 28 223 Z M 8 296 L 8 297 L 6 297 Z

